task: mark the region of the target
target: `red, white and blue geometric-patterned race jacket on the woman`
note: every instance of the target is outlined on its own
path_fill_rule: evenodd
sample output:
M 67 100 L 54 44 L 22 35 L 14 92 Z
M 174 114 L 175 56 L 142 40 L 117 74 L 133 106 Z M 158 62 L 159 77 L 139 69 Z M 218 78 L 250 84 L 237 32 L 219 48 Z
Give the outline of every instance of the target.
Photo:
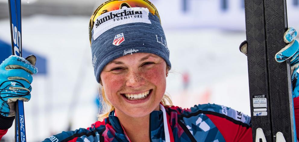
M 296 130 L 299 131 L 299 98 L 294 98 Z M 150 113 L 150 139 L 153 142 L 165 141 L 165 135 L 169 134 L 170 141 L 189 142 L 252 142 L 251 119 L 249 116 L 231 108 L 215 105 L 196 105 L 190 109 L 181 109 L 177 106 L 164 107 L 166 119 L 163 121 L 163 111 Z M 0 117 L 0 120 L 10 121 L 12 118 Z M 0 139 L 6 133 L 6 129 L 0 121 Z M 11 122 L 12 123 L 12 122 Z M 167 126 L 164 126 L 167 123 Z M 165 128 L 168 132 L 165 133 Z M 297 134 L 298 135 L 298 134 Z M 80 128 L 75 131 L 63 131 L 52 135 L 44 142 L 128 142 L 117 116 L 112 111 L 102 122 L 96 122 L 91 127 Z

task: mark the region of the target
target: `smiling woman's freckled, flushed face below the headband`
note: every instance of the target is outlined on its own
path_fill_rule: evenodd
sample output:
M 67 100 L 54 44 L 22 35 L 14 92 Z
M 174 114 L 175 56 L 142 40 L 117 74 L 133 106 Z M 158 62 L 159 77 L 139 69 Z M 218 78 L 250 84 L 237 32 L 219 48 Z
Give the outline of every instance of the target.
M 166 62 L 150 53 L 134 53 L 108 63 L 100 77 L 116 110 L 143 117 L 159 108 L 166 88 Z

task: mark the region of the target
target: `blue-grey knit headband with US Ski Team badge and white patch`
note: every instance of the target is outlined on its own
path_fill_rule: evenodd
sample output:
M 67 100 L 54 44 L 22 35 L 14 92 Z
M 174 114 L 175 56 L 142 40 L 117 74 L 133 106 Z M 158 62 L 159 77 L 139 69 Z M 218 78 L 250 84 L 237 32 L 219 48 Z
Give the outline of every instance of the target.
M 147 8 L 124 8 L 100 15 L 92 27 L 91 52 L 94 74 L 112 60 L 133 53 L 152 53 L 171 67 L 169 50 L 159 18 Z

